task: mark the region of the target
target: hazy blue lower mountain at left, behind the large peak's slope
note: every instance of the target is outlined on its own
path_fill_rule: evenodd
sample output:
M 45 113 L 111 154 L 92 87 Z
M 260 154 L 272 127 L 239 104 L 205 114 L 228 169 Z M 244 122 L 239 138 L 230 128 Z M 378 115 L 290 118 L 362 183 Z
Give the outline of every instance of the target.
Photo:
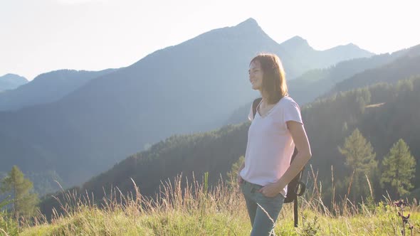
M 16 110 L 35 104 L 60 100 L 65 95 L 85 85 L 89 80 L 114 72 L 115 69 L 102 71 L 56 70 L 43 73 L 31 82 L 0 93 L 0 111 Z

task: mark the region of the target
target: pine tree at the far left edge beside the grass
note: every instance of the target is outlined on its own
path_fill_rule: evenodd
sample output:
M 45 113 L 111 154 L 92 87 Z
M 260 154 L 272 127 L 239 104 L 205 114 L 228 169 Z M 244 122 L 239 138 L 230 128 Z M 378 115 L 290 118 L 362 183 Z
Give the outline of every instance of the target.
M 23 173 L 17 166 L 13 166 L 8 176 L 1 180 L 0 193 L 11 193 L 16 220 L 20 216 L 28 217 L 36 212 L 38 195 L 31 193 L 32 188 L 33 183 L 24 178 Z

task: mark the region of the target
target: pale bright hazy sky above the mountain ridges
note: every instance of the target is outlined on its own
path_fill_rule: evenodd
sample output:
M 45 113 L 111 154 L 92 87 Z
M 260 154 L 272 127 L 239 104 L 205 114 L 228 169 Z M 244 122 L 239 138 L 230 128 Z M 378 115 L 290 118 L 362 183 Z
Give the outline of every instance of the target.
M 419 3 L 416 3 L 419 2 Z M 155 50 L 254 18 L 278 43 L 372 53 L 420 44 L 412 0 L 0 0 L 0 76 L 121 68 Z

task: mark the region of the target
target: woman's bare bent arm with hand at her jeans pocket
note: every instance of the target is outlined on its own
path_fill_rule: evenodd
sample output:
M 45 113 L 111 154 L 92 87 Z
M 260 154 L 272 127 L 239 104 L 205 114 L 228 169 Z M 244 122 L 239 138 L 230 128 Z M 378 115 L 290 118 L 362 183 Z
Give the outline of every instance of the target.
M 268 184 L 260 189 L 260 192 L 268 197 L 277 195 L 288 183 L 290 183 L 312 156 L 308 136 L 306 135 L 303 124 L 294 121 L 288 121 L 286 124 L 293 141 L 295 142 L 296 149 L 298 149 L 298 154 L 295 156 L 295 159 L 290 164 L 288 170 L 285 171 L 283 176 L 281 176 L 276 183 Z

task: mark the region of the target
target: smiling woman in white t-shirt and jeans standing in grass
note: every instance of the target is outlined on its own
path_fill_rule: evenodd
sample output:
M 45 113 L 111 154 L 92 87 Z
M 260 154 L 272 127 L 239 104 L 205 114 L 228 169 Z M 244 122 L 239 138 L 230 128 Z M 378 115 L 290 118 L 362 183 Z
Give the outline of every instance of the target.
M 246 200 L 254 235 L 270 235 L 283 206 L 287 184 L 311 157 L 308 136 L 298 104 L 288 97 L 280 59 L 260 54 L 251 60 L 249 80 L 263 98 L 248 130 L 245 162 L 239 168 L 238 184 Z M 255 115 L 255 117 L 254 117 Z M 298 149 L 293 163 L 290 159 Z

